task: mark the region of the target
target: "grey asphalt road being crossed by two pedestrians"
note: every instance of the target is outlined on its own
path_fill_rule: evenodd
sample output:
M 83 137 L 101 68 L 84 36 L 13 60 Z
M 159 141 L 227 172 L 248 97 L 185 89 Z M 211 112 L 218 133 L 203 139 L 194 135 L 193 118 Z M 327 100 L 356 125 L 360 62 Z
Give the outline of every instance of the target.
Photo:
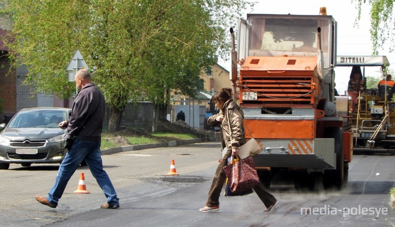
M 11 165 L 0 170 L 0 226 L 64 227 L 282 227 L 394 226 L 388 190 L 393 187 L 394 156 L 354 156 L 349 183 L 342 190 L 295 191 L 273 185 L 279 205 L 270 214 L 255 193 L 220 198 L 220 211 L 201 213 L 220 157 L 218 142 L 104 155 L 105 169 L 120 198 L 120 208 L 99 209 L 105 197 L 87 167 L 80 167 L 56 209 L 34 196 L 52 187 L 56 165 Z M 179 176 L 166 176 L 171 159 Z M 90 194 L 75 194 L 85 172 Z M 9 201 L 9 202 L 6 202 Z

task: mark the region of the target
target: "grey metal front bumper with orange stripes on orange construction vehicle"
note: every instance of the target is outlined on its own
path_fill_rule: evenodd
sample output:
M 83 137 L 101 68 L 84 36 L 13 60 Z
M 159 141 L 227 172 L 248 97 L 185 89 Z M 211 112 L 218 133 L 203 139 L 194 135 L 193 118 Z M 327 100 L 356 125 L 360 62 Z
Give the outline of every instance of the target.
M 308 168 L 311 171 L 336 169 L 333 138 L 256 140 L 261 146 L 261 152 L 253 156 L 257 168 Z

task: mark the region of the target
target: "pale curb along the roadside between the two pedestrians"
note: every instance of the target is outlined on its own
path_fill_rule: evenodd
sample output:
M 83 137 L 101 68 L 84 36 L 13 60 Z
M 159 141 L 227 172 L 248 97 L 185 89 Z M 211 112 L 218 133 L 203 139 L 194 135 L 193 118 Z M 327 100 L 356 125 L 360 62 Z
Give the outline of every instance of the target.
M 130 146 L 123 146 L 119 148 L 110 148 L 110 149 L 102 150 L 102 155 L 114 154 L 123 151 L 138 151 L 138 150 L 144 150 L 149 148 L 175 147 L 175 146 L 194 144 L 199 142 L 202 142 L 202 140 L 201 139 L 173 140 L 170 142 L 159 143 L 159 144 L 130 145 Z

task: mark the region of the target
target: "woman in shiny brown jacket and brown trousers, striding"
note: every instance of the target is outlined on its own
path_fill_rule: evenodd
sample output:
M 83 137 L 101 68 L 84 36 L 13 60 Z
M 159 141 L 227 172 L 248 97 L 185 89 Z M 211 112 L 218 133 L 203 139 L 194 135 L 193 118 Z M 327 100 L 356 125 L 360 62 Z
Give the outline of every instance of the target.
M 207 124 L 209 126 L 220 126 L 222 149 L 227 148 L 227 151 L 215 172 L 213 182 L 208 191 L 206 205 L 199 209 L 201 212 L 219 210 L 219 196 L 226 180 L 223 167 L 227 164 L 228 157 L 231 155 L 237 156 L 238 147 L 246 143 L 244 138 L 243 111 L 237 103 L 232 101 L 232 89 L 222 88 L 213 95 L 212 99 L 215 106 L 220 109 L 220 112 L 210 116 L 207 119 Z M 229 125 L 231 128 L 229 128 Z M 253 189 L 265 204 L 266 209 L 264 213 L 271 212 L 278 204 L 276 198 L 265 189 L 262 183 L 259 183 Z

